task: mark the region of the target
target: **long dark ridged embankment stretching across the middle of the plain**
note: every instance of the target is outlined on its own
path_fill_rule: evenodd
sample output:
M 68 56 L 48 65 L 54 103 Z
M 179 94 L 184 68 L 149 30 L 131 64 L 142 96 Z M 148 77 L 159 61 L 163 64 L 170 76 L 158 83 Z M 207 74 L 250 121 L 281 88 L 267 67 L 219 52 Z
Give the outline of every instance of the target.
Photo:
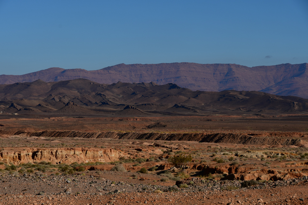
M 67 138 L 110 138 L 127 140 L 172 140 L 172 141 L 199 141 L 224 144 L 250 144 L 250 145 L 293 145 L 298 147 L 308 147 L 308 142 L 301 139 L 292 139 L 281 134 L 275 137 L 251 136 L 234 133 L 159 133 L 159 132 L 78 132 L 78 131 L 0 131 L 1 135 L 20 135 L 37 137 L 67 137 Z M 302 135 L 298 135 L 302 136 Z

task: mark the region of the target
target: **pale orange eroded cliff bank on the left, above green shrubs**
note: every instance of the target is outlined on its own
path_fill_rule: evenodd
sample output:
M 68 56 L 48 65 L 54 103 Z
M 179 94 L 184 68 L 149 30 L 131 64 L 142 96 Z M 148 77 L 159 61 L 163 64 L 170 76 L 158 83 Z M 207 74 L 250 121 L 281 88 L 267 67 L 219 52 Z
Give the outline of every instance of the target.
M 28 163 L 47 161 L 52 164 L 73 162 L 111 162 L 127 156 L 114 149 L 97 148 L 28 148 L 22 151 L 1 151 L 0 162 Z

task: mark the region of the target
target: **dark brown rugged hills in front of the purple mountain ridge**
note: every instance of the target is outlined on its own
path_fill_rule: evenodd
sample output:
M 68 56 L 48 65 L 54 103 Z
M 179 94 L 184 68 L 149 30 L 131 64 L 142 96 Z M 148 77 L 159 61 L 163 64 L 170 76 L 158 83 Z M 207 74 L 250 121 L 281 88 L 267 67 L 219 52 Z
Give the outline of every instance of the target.
M 192 91 L 176 84 L 99 84 L 87 79 L 0 85 L 0 111 L 38 115 L 308 113 L 308 100 L 257 91 Z

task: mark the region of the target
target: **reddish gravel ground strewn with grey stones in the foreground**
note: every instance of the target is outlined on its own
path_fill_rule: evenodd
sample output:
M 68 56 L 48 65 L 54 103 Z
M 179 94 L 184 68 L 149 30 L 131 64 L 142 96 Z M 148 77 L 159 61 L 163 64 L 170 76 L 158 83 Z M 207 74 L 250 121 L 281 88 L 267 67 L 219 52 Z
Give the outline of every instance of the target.
M 241 181 L 216 181 L 197 177 L 155 182 L 151 174 L 105 171 L 97 175 L 1 175 L 2 204 L 307 204 L 307 177 L 260 183 L 241 188 Z M 153 175 L 152 175 L 153 176 Z M 118 179 L 118 180 L 116 180 Z M 227 187 L 239 187 L 225 190 Z M 162 192 L 162 193 L 160 193 Z

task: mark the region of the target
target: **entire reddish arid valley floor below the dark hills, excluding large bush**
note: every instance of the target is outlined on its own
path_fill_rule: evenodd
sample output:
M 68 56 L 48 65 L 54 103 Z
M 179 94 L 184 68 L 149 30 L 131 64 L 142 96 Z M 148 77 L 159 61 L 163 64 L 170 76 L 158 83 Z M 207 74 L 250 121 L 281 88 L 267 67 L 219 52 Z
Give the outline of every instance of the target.
M 0 204 L 307 204 L 307 121 L 0 114 Z

